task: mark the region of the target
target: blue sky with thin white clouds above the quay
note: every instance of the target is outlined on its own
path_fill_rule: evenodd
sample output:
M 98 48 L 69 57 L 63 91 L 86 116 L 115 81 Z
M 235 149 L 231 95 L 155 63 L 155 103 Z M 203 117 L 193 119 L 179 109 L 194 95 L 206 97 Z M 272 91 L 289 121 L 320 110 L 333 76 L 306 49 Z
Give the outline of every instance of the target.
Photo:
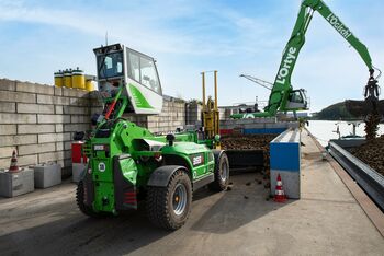
M 384 69 L 384 2 L 325 0 Z M 218 103 L 268 100 L 269 91 L 239 78 L 273 82 L 300 0 L 47 1 L 0 0 L 0 77 L 53 83 L 54 71 L 95 72 L 92 48 L 123 43 L 157 59 L 163 92 L 201 98 L 203 70 L 218 70 Z M 359 55 L 314 15 L 292 77 L 310 110 L 362 98 L 368 70 Z M 212 78 L 207 77 L 212 90 Z M 213 93 L 213 91 L 212 91 Z

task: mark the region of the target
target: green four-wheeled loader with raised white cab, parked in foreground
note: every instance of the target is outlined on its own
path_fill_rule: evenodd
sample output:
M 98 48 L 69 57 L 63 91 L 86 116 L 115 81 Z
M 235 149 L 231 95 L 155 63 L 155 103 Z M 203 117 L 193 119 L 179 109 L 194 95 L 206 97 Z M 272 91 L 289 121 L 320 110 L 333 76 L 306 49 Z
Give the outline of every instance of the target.
M 95 128 L 84 142 L 89 161 L 77 188 L 78 207 L 90 217 L 116 216 L 144 201 L 154 224 L 179 229 L 190 214 L 194 190 L 226 188 L 228 158 L 215 149 L 216 136 L 194 130 L 155 136 L 124 119 L 124 113 L 161 112 L 156 62 L 121 44 L 93 51 L 104 109 L 92 118 Z

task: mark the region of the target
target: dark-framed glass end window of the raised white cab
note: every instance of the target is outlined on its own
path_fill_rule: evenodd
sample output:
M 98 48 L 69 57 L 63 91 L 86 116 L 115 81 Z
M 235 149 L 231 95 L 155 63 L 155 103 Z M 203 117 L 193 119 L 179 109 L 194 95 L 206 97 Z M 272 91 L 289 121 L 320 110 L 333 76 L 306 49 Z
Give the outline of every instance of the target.
M 123 75 L 123 51 L 111 53 L 98 57 L 99 79 Z

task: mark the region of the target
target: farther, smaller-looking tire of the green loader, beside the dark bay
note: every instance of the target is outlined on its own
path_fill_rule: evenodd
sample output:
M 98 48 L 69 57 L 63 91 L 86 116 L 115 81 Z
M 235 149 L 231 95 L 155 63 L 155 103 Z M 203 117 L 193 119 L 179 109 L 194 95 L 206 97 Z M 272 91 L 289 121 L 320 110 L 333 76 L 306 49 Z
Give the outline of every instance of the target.
M 225 152 L 215 158 L 215 181 L 208 185 L 214 191 L 222 191 L 227 188 L 229 183 L 229 161 Z

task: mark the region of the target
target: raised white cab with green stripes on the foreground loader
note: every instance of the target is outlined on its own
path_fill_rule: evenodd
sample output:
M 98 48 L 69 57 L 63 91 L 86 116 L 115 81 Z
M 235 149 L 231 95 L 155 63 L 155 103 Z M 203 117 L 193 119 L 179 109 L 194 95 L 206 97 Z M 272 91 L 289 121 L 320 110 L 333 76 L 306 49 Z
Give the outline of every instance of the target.
M 97 57 L 99 92 L 108 101 L 116 95 L 128 98 L 125 113 L 156 115 L 161 113 L 162 90 L 153 57 L 121 44 L 93 49 Z

